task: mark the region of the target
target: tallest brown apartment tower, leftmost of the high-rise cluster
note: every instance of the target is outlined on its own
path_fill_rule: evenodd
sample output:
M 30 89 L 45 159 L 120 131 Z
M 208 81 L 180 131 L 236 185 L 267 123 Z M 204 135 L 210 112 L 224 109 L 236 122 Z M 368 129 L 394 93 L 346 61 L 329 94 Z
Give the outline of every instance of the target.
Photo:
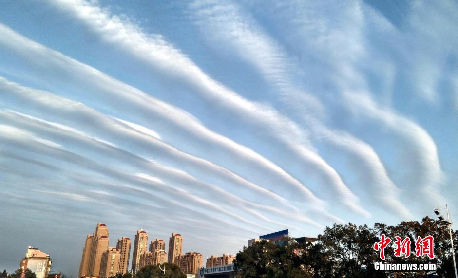
M 79 277 L 100 275 L 102 254 L 108 248 L 108 236 L 107 225 L 97 223 L 95 233 L 86 237 L 79 266 Z

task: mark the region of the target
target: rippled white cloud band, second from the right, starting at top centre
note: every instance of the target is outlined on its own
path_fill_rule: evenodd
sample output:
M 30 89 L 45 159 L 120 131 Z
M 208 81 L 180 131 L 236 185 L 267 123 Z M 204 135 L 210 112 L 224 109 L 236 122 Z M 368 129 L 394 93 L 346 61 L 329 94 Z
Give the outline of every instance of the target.
M 350 155 L 357 157 L 356 171 L 364 177 L 364 183 L 372 190 L 383 192 L 374 194 L 382 208 L 402 217 L 410 216 L 408 209 L 399 200 L 399 189 L 388 177 L 382 162 L 375 151 L 363 141 L 346 132 L 336 132 L 323 124 L 323 105 L 310 93 L 300 89 L 293 81 L 292 72 L 299 71 L 292 58 L 257 22 L 244 16 L 239 7 L 227 1 L 199 1 L 190 4 L 195 14 L 192 18 L 202 30 L 203 37 L 211 41 L 210 46 L 224 42 L 233 48 L 232 55 L 241 56 L 257 68 L 267 82 L 273 83 L 279 95 L 277 98 L 286 107 L 295 111 L 304 120 L 305 126 L 317 139 L 341 148 Z M 214 42 L 218 42 L 217 44 Z M 298 101 L 303 96 L 305 101 Z M 315 109 L 301 105 L 313 100 Z M 319 109 L 316 109 L 318 107 Z M 319 111 L 319 112 L 317 112 Z M 362 170 L 364 169 L 364 170 Z M 328 169 L 332 171 L 332 169 Z M 336 182 L 338 184 L 338 182 Z M 336 188 L 338 194 L 348 195 L 344 187 Z M 351 197 L 346 196 L 349 200 Z M 349 201 L 353 202 L 353 201 Z M 387 205 L 389 204 L 389 205 Z

